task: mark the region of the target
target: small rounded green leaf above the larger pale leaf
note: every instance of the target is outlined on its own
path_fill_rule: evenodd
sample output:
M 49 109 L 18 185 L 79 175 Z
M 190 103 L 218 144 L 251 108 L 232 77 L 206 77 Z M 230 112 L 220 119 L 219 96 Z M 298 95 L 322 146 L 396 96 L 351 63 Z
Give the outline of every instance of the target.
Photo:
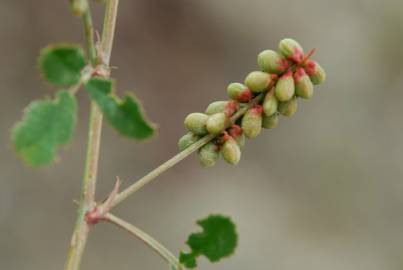
M 84 51 L 75 45 L 51 45 L 43 49 L 39 56 L 43 76 L 55 86 L 77 84 L 85 64 Z

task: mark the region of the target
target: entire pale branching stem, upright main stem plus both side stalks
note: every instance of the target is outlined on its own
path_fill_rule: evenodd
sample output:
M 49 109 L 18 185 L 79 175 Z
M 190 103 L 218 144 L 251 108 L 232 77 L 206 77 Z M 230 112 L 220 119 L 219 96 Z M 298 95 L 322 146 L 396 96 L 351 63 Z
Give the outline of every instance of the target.
M 83 14 L 83 23 L 85 30 L 85 37 L 87 42 L 88 55 L 90 57 L 90 62 L 93 68 L 98 65 L 102 65 L 106 68 L 109 67 L 110 57 L 112 52 L 112 45 L 115 33 L 116 18 L 117 18 L 117 8 L 119 5 L 119 0 L 106 0 L 106 11 L 104 18 L 104 27 L 102 33 L 102 41 L 100 46 L 96 46 L 94 41 L 94 29 L 92 24 L 92 18 L 90 9 Z M 101 60 L 101 63 L 99 62 Z M 109 76 L 109 72 L 105 77 Z M 79 86 L 78 86 L 79 87 Z M 71 89 L 73 93 L 77 91 L 76 88 Z M 246 111 L 257 104 L 264 98 L 265 93 L 261 93 L 255 97 L 246 106 L 241 107 L 229 121 L 229 125 L 235 123 Z M 87 158 L 83 177 L 83 183 L 81 187 L 81 198 L 78 207 L 77 220 L 74 228 L 73 236 L 70 243 L 70 249 L 67 256 L 67 261 L 65 264 L 65 270 L 78 270 L 80 267 L 81 259 L 84 254 L 84 249 L 86 246 L 88 233 L 90 230 L 90 224 L 87 223 L 86 215 L 91 210 L 96 208 L 95 203 L 95 188 L 96 188 L 96 178 L 98 171 L 98 160 L 101 142 L 101 130 L 102 130 L 102 113 L 98 109 L 95 102 L 91 102 L 91 113 L 90 113 L 90 123 L 88 132 L 88 148 L 87 148 Z M 150 183 L 157 176 L 168 170 L 169 168 L 176 165 L 178 162 L 182 161 L 190 154 L 195 152 L 197 149 L 214 139 L 217 135 L 206 135 L 199 139 L 194 144 L 190 145 L 188 148 L 178 153 L 176 156 L 172 157 L 165 163 L 161 164 L 159 167 L 145 175 L 143 178 L 123 190 L 121 193 L 117 194 L 114 198 L 112 205 L 108 205 L 108 210 L 112 207 L 118 205 L 130 195 L 141 189 L 146 184 Z M 110 202 L 109 202 L 110 204 Z M 101 205 L 102 206 L 102 205 Z M 99 205 L 98 205 L 99 207 Z M 132 224 L 110 214 L 103 213 L 102 219 L 110 223 L 117 225 L 118 227 L 126 230 L 131 235 L 141 239 L 144 243 L 155 250 L 162 258 L 164 258 L 169 265 L 176 269 L 181 269 L 181 265 L 178 259 L 162 244 L 156 241 L 154 238 L 136 228 Z

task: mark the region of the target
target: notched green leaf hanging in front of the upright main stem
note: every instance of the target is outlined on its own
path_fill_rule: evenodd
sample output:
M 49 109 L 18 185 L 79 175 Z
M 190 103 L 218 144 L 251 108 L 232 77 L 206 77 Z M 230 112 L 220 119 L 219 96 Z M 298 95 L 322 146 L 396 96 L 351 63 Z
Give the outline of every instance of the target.
M 113 82 L 101 78 L 92 78 L 85 85 L 91 99 L 121 135 L 137 140 L 151 137 L 155 133 L 154 125 L 146 119 L 136 98 L 126 95 L 120 100 L 112 94 L 112 89 Z

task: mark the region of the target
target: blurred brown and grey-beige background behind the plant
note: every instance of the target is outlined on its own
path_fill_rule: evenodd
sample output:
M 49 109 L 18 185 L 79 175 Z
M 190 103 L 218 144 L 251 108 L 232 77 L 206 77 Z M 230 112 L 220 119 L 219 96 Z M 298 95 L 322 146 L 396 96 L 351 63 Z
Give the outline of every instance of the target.
M 103 9 L 94 4 L 100 29 Z M 194 221 L 230 215 L 239 247 L 200 269 L 403 269 L 403 2 L 400 0 L 136 0 L 120 3 L 112 65 L 119 93 L 143 101 L 159 135 L 147 143 L 106 124 L 97 197 L 115 176 L 127 186 L 177 152 L 183 119 L 226 98 L 257 69 L 256 56 L 298 40 L 328 73 L 295 117 L 247 143 L 242 161 L 203 169 L 195 155 L 114 213 L 176 254 Z M 60 162 L 34 170 L 9 131 L 28 103 L 53 96 L 40 77 L 41 48 L 82 42 L 67 1 L 0 3 L 0 268 L 62 269 L 74 225 L 86 148 L 88 99 L 78 94 L 76 136 Z M 136 239 L 95 226 L 82 269 L 166 269 Z

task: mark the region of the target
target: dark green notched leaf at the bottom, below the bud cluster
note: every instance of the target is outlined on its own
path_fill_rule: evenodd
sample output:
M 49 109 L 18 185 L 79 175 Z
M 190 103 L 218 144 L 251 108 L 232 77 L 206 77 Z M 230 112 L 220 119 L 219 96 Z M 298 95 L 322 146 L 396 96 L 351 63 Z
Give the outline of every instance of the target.
M 198 220 L 197 224 L 203 228 L 203 231 L 189 236 L 186 244 L 190 247 L 191 252 L 180 253 L 181 264 L 187 268 L 195 268 L 196 259 L 200 255 L 206 256 L 211 262 L 217 262 L 234 253 L 238 235 L 235 224 L 230 218 L 210 215 Z

